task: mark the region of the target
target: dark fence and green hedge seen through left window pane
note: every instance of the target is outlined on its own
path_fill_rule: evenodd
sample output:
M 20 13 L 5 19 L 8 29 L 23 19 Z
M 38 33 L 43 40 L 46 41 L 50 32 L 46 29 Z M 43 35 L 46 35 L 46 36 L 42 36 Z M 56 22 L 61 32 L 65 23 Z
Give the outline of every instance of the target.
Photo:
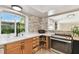
M 14 33 L 14 23 L 2 22 L 2 24 L 1 24 L 1 33 L 2 34 Z

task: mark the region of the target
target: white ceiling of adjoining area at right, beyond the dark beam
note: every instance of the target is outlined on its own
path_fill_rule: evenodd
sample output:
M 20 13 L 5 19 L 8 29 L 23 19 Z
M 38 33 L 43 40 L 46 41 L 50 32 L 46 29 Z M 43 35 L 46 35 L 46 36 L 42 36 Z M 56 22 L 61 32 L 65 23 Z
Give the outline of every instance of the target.
M 74 22 L 78 23 L 79 22 L 79 11 L 49 17 L 49 19 L 52 19 L 59 23 L 74 23 Z

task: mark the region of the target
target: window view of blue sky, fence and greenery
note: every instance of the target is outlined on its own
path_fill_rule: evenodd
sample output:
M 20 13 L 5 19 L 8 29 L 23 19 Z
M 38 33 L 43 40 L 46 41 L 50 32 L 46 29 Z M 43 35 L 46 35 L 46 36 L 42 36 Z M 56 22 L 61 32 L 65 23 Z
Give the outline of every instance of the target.
M 15 32 L 16 21 L 16 33 L 24 32 L 24 17 L 9 12 L 0 12 L 1 20 L 1 34 L 10 34 Z

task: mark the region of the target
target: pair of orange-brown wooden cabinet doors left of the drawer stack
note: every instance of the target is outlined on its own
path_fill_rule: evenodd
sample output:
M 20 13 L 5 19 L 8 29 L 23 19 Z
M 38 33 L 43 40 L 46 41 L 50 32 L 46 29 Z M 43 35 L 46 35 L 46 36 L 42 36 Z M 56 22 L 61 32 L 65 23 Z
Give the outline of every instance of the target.
M 5 54 L 32 54 L 32 39 L 5 45 Z

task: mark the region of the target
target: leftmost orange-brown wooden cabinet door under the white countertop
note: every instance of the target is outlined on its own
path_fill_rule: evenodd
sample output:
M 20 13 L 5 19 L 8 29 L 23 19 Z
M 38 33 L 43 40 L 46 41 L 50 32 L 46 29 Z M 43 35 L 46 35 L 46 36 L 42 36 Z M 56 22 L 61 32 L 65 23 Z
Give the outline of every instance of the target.
M 5 45 L 5 54 L 21 54 L 20 42 L 10 43 Z

